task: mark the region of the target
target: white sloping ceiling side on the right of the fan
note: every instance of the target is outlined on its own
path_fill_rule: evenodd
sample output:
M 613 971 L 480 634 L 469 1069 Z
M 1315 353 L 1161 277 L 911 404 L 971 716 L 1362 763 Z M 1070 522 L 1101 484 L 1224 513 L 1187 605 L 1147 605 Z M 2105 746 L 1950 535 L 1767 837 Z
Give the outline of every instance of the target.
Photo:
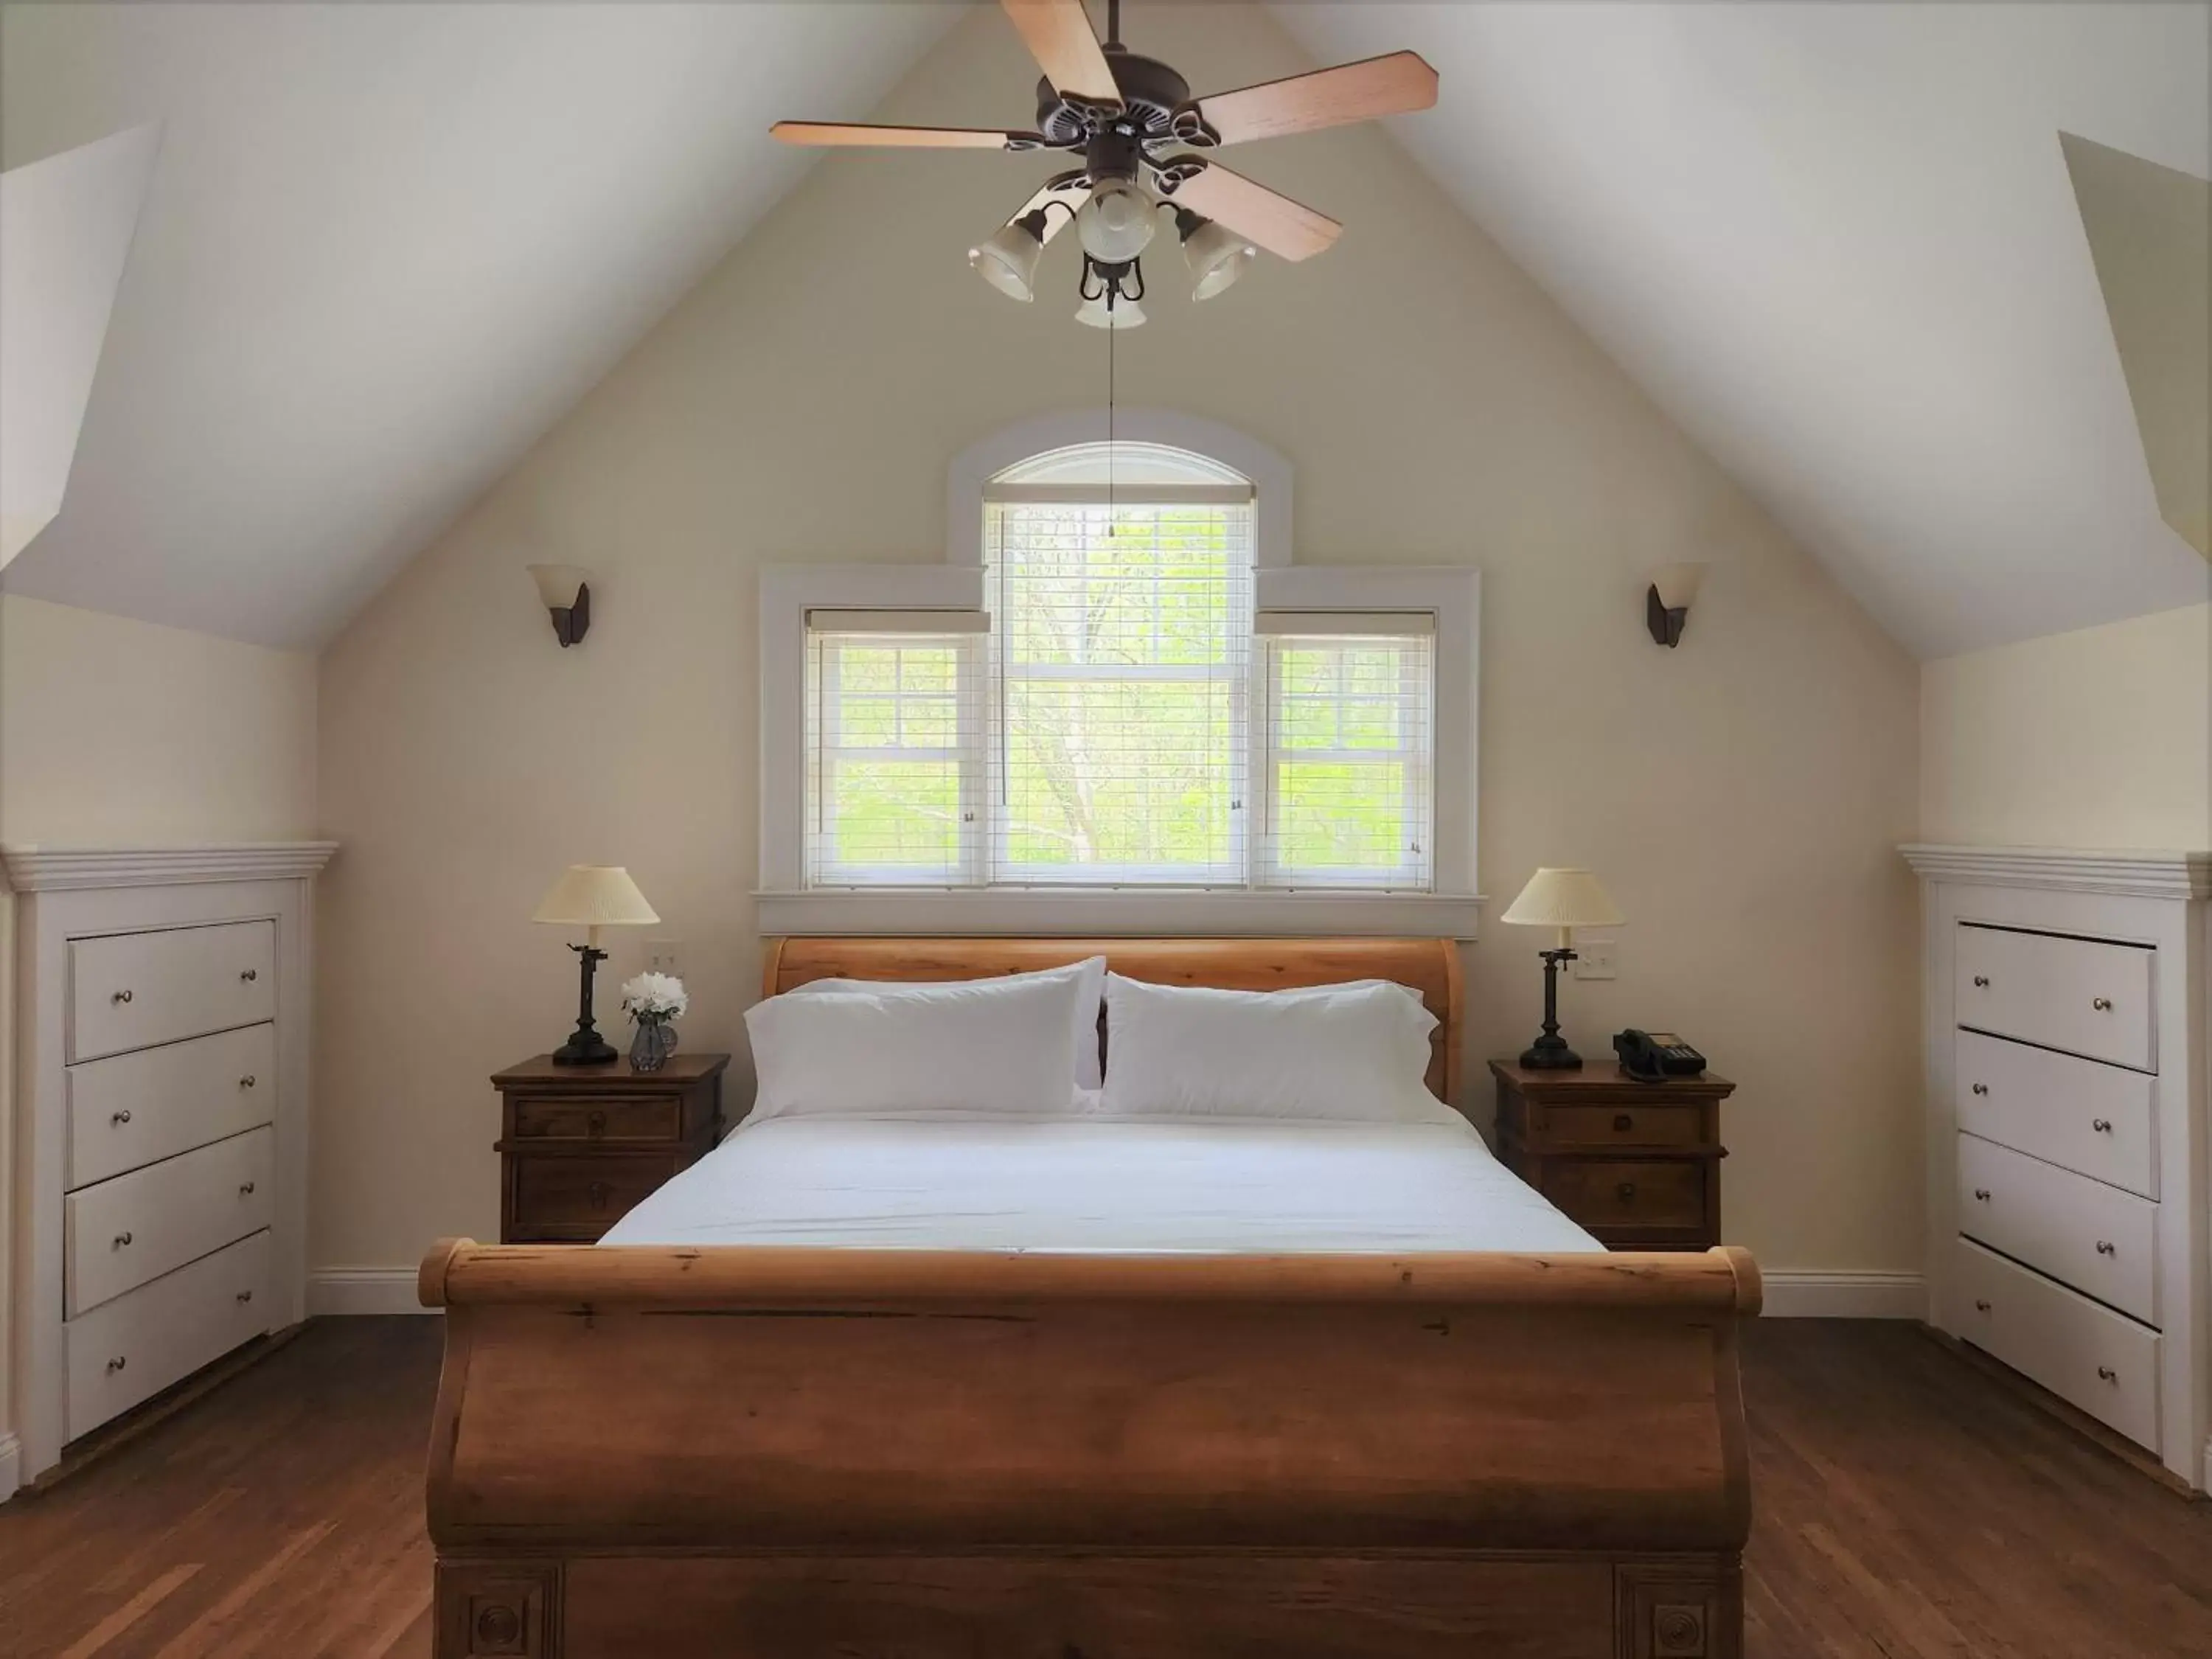
M 2212 9 L 1276 13 L 1429 58 L 1407 148 L 1920 655 L 2205 597 L 2059 133 L 2212 175 Z

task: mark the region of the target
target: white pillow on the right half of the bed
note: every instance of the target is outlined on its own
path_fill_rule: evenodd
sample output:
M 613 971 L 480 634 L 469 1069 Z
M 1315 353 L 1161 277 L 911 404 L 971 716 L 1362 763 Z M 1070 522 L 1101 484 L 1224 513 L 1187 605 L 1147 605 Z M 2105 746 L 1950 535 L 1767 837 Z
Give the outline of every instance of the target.
M 1104 1117 L 1433 1119 L 1436 1015 L 1402 984 L 1212 991 L 1106 975 Z

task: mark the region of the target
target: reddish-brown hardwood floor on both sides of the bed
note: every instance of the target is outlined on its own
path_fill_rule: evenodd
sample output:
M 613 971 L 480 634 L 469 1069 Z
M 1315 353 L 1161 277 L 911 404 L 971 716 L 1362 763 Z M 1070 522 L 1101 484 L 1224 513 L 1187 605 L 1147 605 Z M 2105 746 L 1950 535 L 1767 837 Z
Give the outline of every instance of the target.
M 438 1321 L 321 1321 L 0 1506 L 4 1659 L 427 1659 Z M 2190 1504 L 1905 1325 L 1767 1321 L 1750 1659 L 2212 1655 Z

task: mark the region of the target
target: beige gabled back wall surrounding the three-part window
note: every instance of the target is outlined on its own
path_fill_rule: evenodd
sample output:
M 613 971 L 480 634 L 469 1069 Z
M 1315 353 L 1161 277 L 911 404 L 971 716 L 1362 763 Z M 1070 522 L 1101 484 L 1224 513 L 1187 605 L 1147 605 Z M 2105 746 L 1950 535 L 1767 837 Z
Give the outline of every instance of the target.
M 1265 18 L 1139 9 L 1197 84 L 1303 66 Z M 883 119 L 1018 117 L 1033 69 L 978 9 Z M 1011 91 L 1009 91 L 1011 88 Z M 860 115 L 860 111 L 827 111 Z M 1918 1265 L 1913 664 L 1374 131 L 1256 146 L 1347 219 L 1192 307 L 1150 263 L 1124 403 L 1186 409 L 1298 469 L 1303 562 L 1484 573 L 1482 885 L 1595 865 L 1621 978 L 1571 1035 L 1674 1026 L 1739 1079 L 1728 1232 L 1770 1267 Z M 830 157 L 325 653 L 314 1261 L 403 1265 L 491 1237 L 487 1073 L 560 1040 L 562 938 L 524 918 L 566 863 L 626 863 L 684 940 L 692 1046 L 730 1046 L 754 933 L 754 566 L 933 560 L 945 467 L 1022 416 L 1097 405 L 1073 250 L 1015 305 L 964 265 L 1046 166 Z M 1710 560 L 1681 650 L 1646 573 Z M 560 650 L 522 566 L 588 566 Z M 1535 1031 L 1540 940 L 1471 951 L 1480 1057 Z M 615 940 L 613 975 L 644 940 Z M 604 984 L 604 978 L 602 978 Z M 613 998 L 602 993 L 602 1009 Z

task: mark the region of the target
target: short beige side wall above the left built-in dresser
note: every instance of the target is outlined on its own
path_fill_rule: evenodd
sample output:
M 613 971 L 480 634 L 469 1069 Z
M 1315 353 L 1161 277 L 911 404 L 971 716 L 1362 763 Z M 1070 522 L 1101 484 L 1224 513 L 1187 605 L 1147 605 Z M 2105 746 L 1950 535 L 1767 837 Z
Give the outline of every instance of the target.
M 0 841 L 314 834 L 314 681 L 307 653 L 0 595 Z M 13 922 L 0 878 L 0 1009 L 15 1006 Z M 0 1020 L 0 1336 L 13 1239 L 11 1024 Z M 0 1438 L 11 1425 L 0 1363 Z

